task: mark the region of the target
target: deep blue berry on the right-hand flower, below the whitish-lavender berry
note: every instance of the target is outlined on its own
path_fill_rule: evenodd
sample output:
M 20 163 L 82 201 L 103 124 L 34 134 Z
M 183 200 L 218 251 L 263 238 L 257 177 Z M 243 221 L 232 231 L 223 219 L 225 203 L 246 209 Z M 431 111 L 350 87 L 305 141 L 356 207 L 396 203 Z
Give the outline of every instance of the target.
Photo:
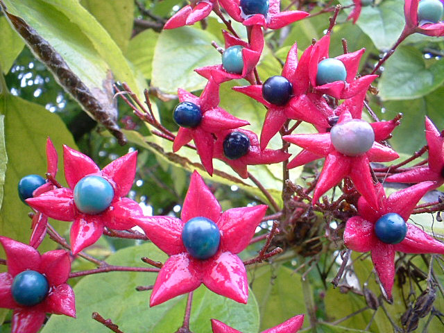
M 388 213 L 375 223 L 376 237 L 386 244 L 398 244 L 407 234 L 407 224 L 400 214 Z

